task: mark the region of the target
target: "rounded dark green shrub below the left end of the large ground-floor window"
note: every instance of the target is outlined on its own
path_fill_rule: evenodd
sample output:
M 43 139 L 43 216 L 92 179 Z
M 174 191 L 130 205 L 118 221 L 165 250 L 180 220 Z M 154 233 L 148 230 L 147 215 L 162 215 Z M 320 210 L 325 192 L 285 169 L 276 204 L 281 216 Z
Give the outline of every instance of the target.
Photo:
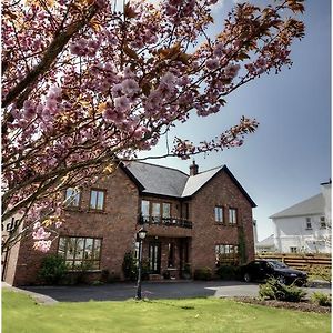
M 57 254 L 50 254 L 42 261 L 39 278 L 46 284 L 58 284 L 65 273 L 67 266 L 63 258 Z

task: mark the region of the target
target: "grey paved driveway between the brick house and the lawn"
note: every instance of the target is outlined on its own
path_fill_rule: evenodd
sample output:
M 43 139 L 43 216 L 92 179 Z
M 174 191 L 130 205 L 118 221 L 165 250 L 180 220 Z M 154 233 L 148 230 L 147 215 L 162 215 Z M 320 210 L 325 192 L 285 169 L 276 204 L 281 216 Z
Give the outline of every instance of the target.
M 134 283 L 113 283 L 100 286 L 27 286 L 28 291 L 48 295 L 60 302 L 123 301 L 135 296 Z M 330 287 L 305 287 L 311 294 L 314 291 L 331 293 Z M 186 299 L 200 296 L 258 296 L 258 283 L 239 281 L 208 282 L 143 282 L 142 297 L 148 299 Z

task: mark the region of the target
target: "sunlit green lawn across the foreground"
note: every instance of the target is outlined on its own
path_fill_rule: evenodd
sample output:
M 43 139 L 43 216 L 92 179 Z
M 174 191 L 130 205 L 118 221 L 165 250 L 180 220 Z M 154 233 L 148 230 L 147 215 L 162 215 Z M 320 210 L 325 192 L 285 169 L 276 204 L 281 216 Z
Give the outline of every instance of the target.
M 331 315 L 189 299 L 39 305 L 2 290 L 3 333 L 331 332 Z

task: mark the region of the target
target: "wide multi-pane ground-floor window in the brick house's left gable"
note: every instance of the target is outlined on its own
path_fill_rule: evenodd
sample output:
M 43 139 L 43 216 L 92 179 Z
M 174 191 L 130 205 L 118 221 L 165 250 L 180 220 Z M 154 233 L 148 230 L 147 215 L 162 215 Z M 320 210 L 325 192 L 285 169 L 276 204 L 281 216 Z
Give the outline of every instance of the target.
M 70 270 L 99 270 L 101 239 L 60 236 L 58 254 Z

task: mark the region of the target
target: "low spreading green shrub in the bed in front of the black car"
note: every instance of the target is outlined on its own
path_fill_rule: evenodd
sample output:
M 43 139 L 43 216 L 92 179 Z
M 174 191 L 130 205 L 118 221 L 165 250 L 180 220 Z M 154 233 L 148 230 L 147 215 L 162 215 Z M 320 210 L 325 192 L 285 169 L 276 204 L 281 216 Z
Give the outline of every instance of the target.
M 274 278 L 269 279 L 266 283 L 259 286 L 259 296 L 265 300 L 300 302 L 305 295 L 306 292 L 302 289 L 293 284 L 285 285 Z

